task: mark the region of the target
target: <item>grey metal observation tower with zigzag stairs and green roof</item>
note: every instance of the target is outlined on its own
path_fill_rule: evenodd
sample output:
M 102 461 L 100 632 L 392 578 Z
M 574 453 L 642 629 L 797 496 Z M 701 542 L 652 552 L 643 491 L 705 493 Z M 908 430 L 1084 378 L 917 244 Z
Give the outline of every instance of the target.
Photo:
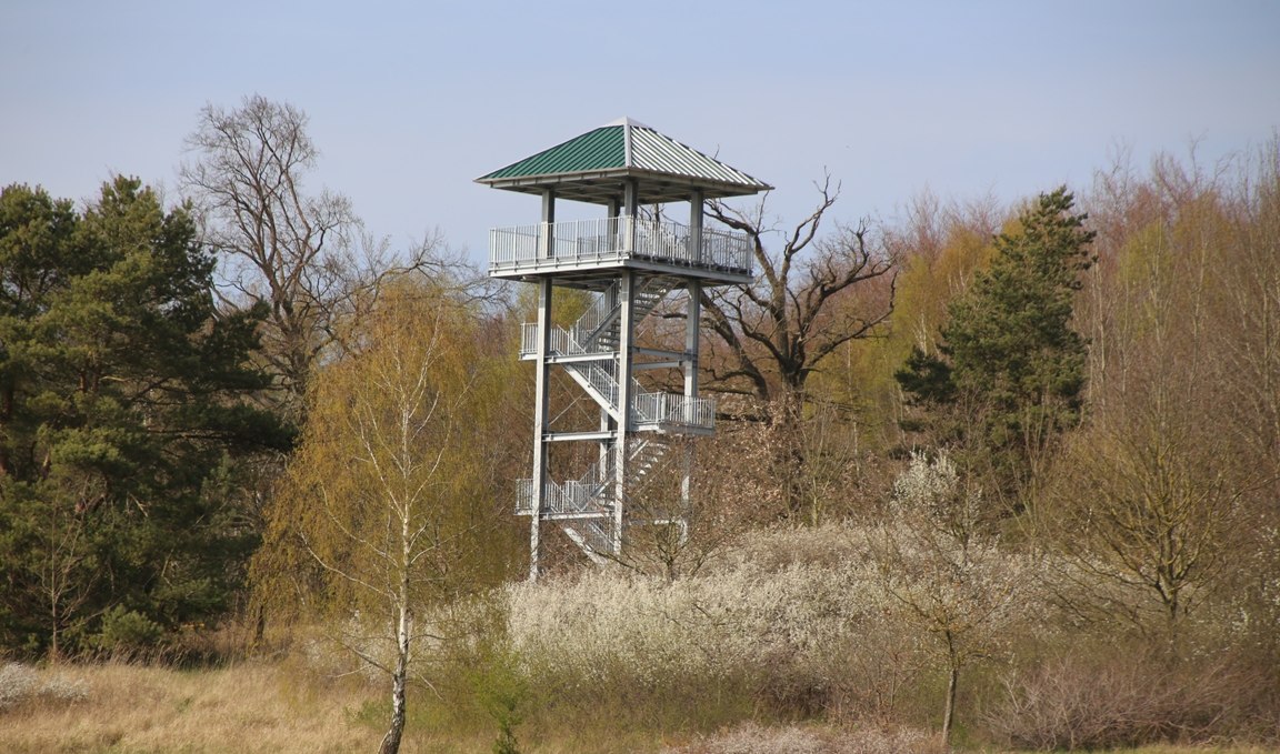
M 669 526 L 684 538 L 687 456 L 678 509 L 655 515 L 635 490 L 671 462 L 672 438 L 714 431 L 714 402 L 698 396 L 700 297 L 705 288 L 749 283 L 753 260 L 746 234 L 703 225 L 703 202 L 772 187 L 627 118 L 476 182 L 541 197 L 540 223 L 489 232 L 489 275 L 538 287 L 538 321 L 522 326 L 520 348 L 536 370 L 534 465 L 516 490 L 516 513 L 530 517 L 530 579 L 538 577 L 544 524 L 559 526 L 595 562 L 620 557 L 631 526 Z M 559 202 L 603 205 L 604 216 L 559 220 Z M 666 219 L 680 213 L 673 204 L 687 205 L 687 223 Z M 554 324 L 557 288 L 581 292 L 556 297 L 570 301 L 572 314 L 585 305 L 572 324 Z M 637 341 L 658 307 L 677 316 L 684 307 L 682 347 Z M 550 390 L 554 370 L 594 402 L 598 424 L 582 426 L 577 412 L 576 426 L 562 426 L 573 412 L 550 406 L 564 399 Z M 668 381 L 682 381 L 684 390 L 648 390 L 636 380 L 645 370 L 678 370 Z

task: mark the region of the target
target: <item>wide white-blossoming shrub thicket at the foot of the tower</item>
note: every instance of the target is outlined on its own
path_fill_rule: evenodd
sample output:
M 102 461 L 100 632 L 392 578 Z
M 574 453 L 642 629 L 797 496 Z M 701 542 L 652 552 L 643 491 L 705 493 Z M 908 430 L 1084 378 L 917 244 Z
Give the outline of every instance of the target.
M 925 666 L 854 526 L 758 533 L 694 576 L 622 571 L 506 591 L 508 641 L 535 686 L 699 695 L 786 714 L 891 717 Z

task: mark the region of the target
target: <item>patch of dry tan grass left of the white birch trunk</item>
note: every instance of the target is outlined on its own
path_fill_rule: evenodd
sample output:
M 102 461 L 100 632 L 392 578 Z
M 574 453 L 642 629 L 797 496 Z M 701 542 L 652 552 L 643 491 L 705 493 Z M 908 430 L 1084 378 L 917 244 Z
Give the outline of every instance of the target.
M 302 680 L 282 666 L 76 666 L 38 676 L 84 693 L 31 695 L 0 712 L 0 751 L 367 751 L 379 741 L 353 719 L 370 690 Z

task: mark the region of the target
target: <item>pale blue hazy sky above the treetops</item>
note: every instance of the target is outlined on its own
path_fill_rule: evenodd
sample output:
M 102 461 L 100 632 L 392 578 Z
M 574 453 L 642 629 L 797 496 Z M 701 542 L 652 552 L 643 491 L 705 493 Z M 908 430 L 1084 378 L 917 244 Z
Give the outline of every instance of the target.
M 776 189 L 780 225 L 1014 202 L 1126 154 L 1199 160 L 1280 128 L 1275 0 L 0 0 L 0 186 L 180 195 L 206 105 L 308 116 L 308 186 L 407 247 L 483 260 L 536 197 L 474 179 L 623 115 Z M 559 219 L 596 216 L 561 209 Z

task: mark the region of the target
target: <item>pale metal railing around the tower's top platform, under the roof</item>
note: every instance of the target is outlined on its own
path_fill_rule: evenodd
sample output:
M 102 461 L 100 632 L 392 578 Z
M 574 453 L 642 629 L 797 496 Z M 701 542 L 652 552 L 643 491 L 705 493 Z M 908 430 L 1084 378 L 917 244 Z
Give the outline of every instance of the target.
M 489 230 L 492 271 L 607 262 L 640 257 L 685 266 L 750 274 L 751 243 L 745 233 L 626 216 L 534 223 Z

